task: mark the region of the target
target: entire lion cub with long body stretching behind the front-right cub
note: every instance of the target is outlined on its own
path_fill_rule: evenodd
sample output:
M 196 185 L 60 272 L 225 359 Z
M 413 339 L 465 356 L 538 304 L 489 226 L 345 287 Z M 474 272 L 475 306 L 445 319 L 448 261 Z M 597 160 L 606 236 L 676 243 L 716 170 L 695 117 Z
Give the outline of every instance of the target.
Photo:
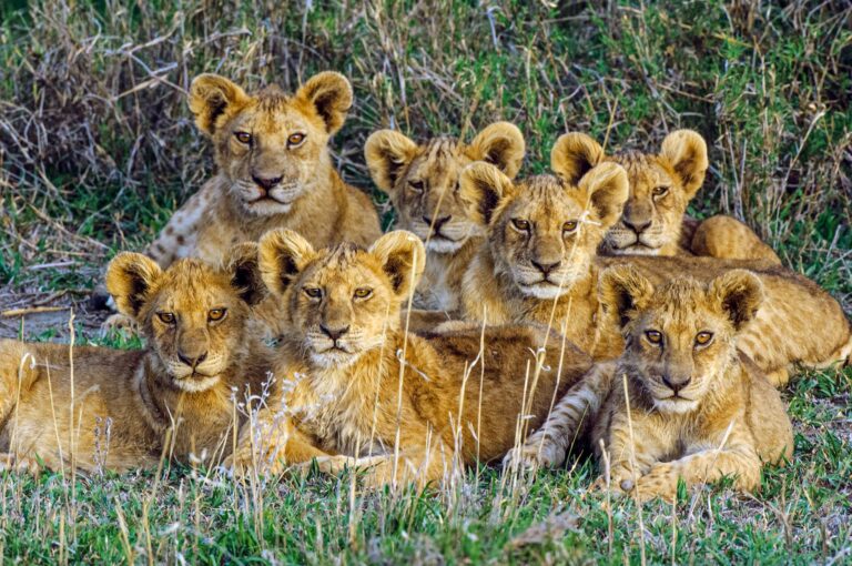
M 466 319 L 550 325 L 596 358 L 615 358 L 622 345 L 598 304 L 600 269 L 629 263 L 655 283 L 672 274 L 707 282 L 732 269 L 748 269 L 763 282 L 767 300 L 739 343 L 773 383 L 785 383 L 794 364 L 825 367 L 849 358 L 852 333 L 840 304 L 819 285 L 774 262 L 596 256 L 626 200 L 627 179 L 620 165 L 601 163 L 578 185 L 569 185 L 548 175 L 513 182 L 480 163 L 465 171 L 462 185 L 469 214 L 487 233 L 465 274 Z M 566 226 L 572 230 L 560 232 Z M 549 266 L 547 277 L 542 265 Z

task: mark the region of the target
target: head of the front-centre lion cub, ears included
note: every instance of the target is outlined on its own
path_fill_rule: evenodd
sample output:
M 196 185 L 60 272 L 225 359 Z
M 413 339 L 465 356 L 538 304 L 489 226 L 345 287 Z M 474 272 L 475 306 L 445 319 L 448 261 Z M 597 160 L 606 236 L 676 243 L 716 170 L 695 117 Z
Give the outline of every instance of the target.
M 399 326 L 399 306 L 423 274 L 426 251 L 408 232 L 369 250 L 341 244 L 315 251 L 291 230 L 260 242 L 266 286 L 285 305 L 290 337 L 320 367 L 346 366 Z

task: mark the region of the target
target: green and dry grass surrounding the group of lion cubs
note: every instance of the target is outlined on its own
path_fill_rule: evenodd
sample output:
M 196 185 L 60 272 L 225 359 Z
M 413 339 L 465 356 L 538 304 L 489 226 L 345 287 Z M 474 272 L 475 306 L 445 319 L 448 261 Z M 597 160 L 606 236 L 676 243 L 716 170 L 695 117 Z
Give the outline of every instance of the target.
M 556 4 L 556 3 L 554 3 Z M 555 139 L 589 132 L 652 150 L 693 128 L 711 170 L 691 212 L 733 214 L 852 311 L 852 18 L 844 2 L 202 2 L 19 0 L 0 7 L 0 310 L 74 306 L 105 261 L 150 241 L 213 171 L 185 89 L 204 71 L 293 89 L 351 78 L 335 138 L 367 191 L 373 130 L 415 138 L 505 119 L 524 173 Z M 373 193 L 377 203 L 383 199 Z M 389 212 L 387 213 L 389 215 Z M 0 319 L 0 335 L 62 340 L 67 313 Z M 138 344 L 106 342 L 121 347 Z M 263 486 L 213 471 L 0 477 L 4 560 L 261 563 L 824 563 L 852 560 L 852 371 L 784 392 L 797 451 L 754 497 L 713 488 L 677 506 L 610 512 L 594 475 L 499 471 L 454 492 L 352 492 L 348 477 Z M 71 494 L 75 494 L 72 497 Z M 611 522 L 611 535 L 609 524 Z

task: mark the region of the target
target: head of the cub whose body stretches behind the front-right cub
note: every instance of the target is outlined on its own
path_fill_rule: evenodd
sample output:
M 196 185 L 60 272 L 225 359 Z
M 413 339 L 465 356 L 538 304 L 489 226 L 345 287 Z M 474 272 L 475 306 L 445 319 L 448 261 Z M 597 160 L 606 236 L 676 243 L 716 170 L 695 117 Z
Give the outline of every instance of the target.
M 554 175 L 513 183 L 497 168 L 470 165 L 462 175 L 468 214 L 487 232 L 497 273 L 525 295 L 554 299 L 589 272 L 607 229 L 627 199 L 627 175 L 607 163 L 568 184 Z

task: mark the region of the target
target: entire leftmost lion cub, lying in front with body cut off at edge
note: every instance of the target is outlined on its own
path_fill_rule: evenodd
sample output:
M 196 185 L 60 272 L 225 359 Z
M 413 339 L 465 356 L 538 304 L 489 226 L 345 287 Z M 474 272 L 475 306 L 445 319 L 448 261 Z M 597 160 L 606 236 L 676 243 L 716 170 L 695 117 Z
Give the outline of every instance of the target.
M 148 347 L 0 342 L 0 462 L 121 472 L 166 454 L 215 464 L 231 452 L 234 403 L 261 392 L 268 370 L 250 329 L 265 293 L 256 245 L 235 247 L 222 269 L 180 260 L 162 271 L 121 253 L 106 286 Z

